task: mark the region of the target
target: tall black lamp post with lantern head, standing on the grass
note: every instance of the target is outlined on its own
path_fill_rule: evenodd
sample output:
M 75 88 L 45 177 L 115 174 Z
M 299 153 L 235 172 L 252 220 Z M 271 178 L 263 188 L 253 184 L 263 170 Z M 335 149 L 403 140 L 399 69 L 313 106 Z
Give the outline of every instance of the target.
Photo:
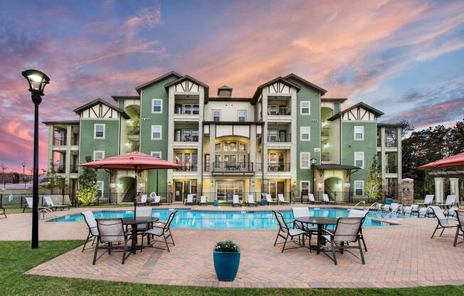
M 43 89 L 50 83 L 45 73 L 38 70 L 26 70 L 21 73 L 29 83 L 34 103 L 34 159 L 32 186 L 32 248 L 38 248 L 38 105 L 42 102 Z

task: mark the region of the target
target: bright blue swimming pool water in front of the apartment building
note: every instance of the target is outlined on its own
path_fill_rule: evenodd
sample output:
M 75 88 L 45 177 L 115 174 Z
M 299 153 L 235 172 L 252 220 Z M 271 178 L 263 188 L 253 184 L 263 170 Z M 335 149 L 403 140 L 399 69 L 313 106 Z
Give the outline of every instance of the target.
M 152 216 L 159 220 L 167 220 L 174 209 L 153 209 Z M 292 221 L 291 211 L 282 211 L 285 221 Z M 134 216 L 134 211 L 96 211 L 95 218 L 123 218 Z M 375 218 L 386 218 L 387 213 L 369 211 L 364 227 L 386 226 L 388 223 L 372 221 Z M 310 208 L 310 216 L 320 217 L 347 217 L 345 208 Z M 401 214 L 393 214 L 389 218 L 407 218 Z M 49 222 L 84 221 L 80 214 L 52 219 Z M 278 228 L 272 211 L 190 211 L 179 209 L 172 222 L 172 227 L 178 228 L 244 228 L 268 229 Z

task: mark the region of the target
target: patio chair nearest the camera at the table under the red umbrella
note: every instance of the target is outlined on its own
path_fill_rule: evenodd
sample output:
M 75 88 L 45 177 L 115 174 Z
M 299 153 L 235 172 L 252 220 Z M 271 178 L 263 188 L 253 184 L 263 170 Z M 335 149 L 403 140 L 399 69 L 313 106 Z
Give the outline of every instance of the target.
M 127 241 L 131 239 L 130 233 L 124 231 L 124 226 L 122 225 L 122 218 L 105 218 L 105 219 L 96 219 L 97 229 L 99 236 L 97 236 L 97 245 L 95 245 L 95 254 L 93 255 L 93 265 L 97 262 L 98 259 L 108 253 L 111 255 L 112 250 L 122 249 L 122 263 L 125 263 L 127 257 L 130 256 L 131 246 L 127 245 Z M 97 258 L 98 250 L 104 249 L 105 252 L 102 253 Z M 129 254 L 126 256 L 126 252 Z

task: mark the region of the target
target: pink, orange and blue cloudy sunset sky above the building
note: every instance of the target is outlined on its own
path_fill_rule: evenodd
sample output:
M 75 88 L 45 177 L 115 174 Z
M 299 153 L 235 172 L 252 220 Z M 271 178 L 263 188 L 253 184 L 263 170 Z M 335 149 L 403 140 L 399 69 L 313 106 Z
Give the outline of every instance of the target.
M 132 3 L 132 4 L 129 4 Z M 1 1 L 0 163 L 32 166 L 33 103 L 21 71 L 45 72 L 40 120 L 78 119 L 169 70 L 251 96 L 295 73 L 416 128 L 464 117 L 464 1 Z M 213 93 L 213 92 L 212 92 Z M 48 132 L 40 127 L 40 165 Z

